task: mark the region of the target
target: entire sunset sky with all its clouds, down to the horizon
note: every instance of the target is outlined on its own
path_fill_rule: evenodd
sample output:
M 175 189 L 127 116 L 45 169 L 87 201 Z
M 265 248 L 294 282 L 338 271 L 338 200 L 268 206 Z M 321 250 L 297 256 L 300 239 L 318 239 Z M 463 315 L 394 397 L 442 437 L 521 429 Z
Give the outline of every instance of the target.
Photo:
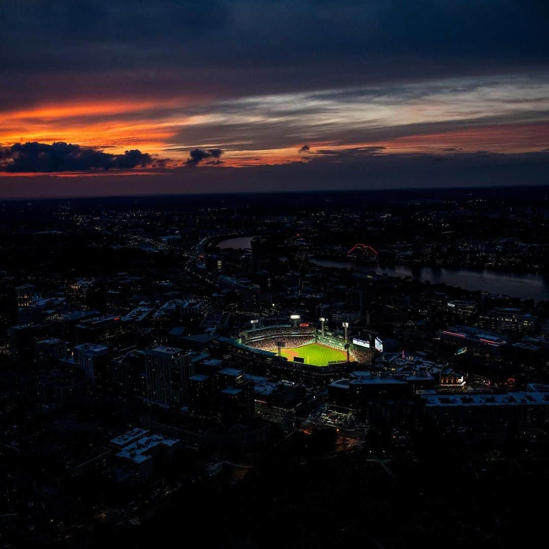
M 544 1 L 0 9 L 3 198 L 549 182 Z

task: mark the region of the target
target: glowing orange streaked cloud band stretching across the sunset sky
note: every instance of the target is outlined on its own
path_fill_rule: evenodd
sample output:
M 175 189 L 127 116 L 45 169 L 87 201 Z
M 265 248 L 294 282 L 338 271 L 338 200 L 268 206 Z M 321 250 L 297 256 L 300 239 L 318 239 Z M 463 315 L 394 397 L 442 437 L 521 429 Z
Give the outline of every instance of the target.
M 502 116 L 501 124 L 460 120 L 455 113 L 452 118 L 440 111 L 436 102 L 430 104 L 436 110 L 433 117 L 426 114 L 428 101 L 421 108 L 408 107 L 404 119 L 397 116 L 401 104 L 384 105 L 379 121 L 368 118 L 373 107 L 365 110 L 358 103 L 356 111 L 330 103 L 329 108 L 322 105 L 318 113 L 304 114 L 297 109 L 294 114 L 293 105 L 305 100 L 290 99 L 284 99 L 289 106 L 284 103 L 282 107 L 278 97 L 209 104 L 211 98 L 206 96 L 188 96 L 81 100 L 5 110 L 0 116 L 0 147 L 63 141 L 114 154 L 139 149 L 169 158 L 166 169 L 183 165 L 193 148 L 220 148 L 220 165 L 231 167 L 307 163 L 323 150 L 364 149 L 356 154 L 390 155 L 479 150 L 523 153 L 549 148 L 546 121 L 513 124 L 511 116 L 507 123 Z M 317 104 L 308 108 L 317 108 Z M 438 131 L 429 132 L 432 127 Z M 299 149 L 304 144 L 309 150 L 303 154 Z

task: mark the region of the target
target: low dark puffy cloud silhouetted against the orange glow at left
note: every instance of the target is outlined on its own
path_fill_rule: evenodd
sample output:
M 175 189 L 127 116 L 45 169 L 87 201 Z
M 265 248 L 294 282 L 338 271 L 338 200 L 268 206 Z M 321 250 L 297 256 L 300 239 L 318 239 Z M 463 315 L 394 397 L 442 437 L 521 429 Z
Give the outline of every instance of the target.
M 7 172 L 129 170 L 154 164 L 151 155 L 137 149 L 111 154 L 63 142 L 15 143 L 0 149 L 0 170 Z

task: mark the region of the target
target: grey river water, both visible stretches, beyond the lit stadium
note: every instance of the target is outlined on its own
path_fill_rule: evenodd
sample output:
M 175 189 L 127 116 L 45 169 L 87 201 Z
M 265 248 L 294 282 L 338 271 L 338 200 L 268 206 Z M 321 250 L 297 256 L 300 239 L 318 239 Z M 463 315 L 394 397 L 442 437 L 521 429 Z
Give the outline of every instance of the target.
M 238 237 L 223 240 L 218 245 L 222 249 L 249 249 L 252 237 Z M 282 259 L 282 258 L 281 258 Z M 512 298 L 533 299 L 534 301 L 549 300 L 549 277 L 542 273 L 514 273 L 507 271 L 475 271 L 472 269 L 451 269 L 432 267 L 380 267 L 379 265 L 357 265 L 350 261 L 331 261 L 311 259 L 316 265 L 324 267 L 354 268 L 355 271 L 375 272 L 378 275 L 411 276 L 420 282 L 430 281 L 433 284 L 442 282 L 449 286 L 465 290 L 482 290 L 491 294 L 505 294 Z

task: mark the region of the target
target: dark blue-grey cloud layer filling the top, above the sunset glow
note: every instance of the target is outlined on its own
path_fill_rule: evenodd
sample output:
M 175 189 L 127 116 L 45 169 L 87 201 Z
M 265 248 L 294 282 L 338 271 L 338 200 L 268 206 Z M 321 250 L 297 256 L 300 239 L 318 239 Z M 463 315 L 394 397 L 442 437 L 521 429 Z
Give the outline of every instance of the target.
M 0 105 L 21 94 L 36 102 L 44 89 L 52 98 L 97 97 L 105 87 L 234 97 L 548 66 L 549 13 L 541 0 L 74 5 L 10 4 L 9 17 L 0 18 Z

